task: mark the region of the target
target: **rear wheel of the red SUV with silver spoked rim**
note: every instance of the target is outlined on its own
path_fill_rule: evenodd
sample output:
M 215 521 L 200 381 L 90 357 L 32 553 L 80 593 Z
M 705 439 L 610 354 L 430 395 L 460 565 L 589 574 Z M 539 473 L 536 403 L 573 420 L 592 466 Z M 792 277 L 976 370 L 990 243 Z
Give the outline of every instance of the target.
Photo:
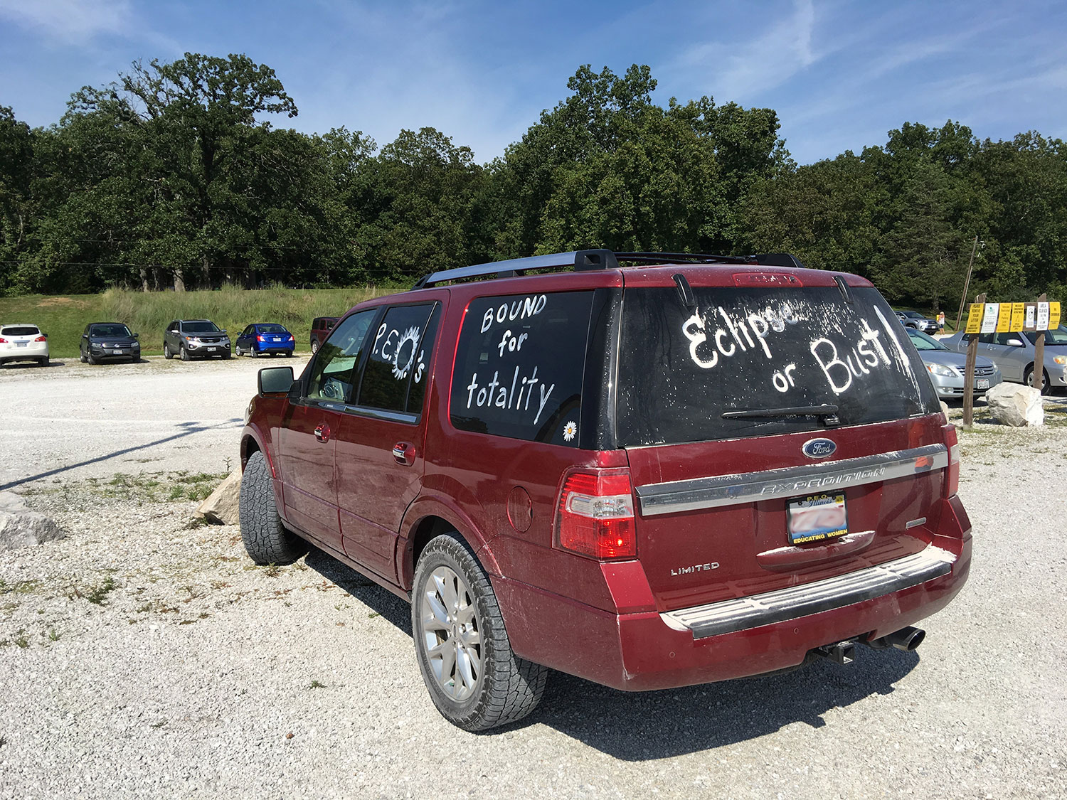
M 457 596 L 452 609 L 445 608 L 441 586 L 446 587 L 446 593 L 451 591 Z M 446 621 L 436 622 L 440 614 L 433 612 L 434 604 L 447 612 Z M 473 609 L 473 612 L 468 610 L 463 614 L 464 609 Z M 458 535 L 436 537 L 419 556 L 412 590 L 411 623 L 415 658 L 430 699 L 453 725 L 464 731 L 485 731 L 522 719 L 537 707 L 544 693 L 548 670 L 512 653 L 489 576 Z M 449 642 L 460 642 L 461 634 L 476 635 L 477 642 L 449 645 Z M 441 678 L 431 663 L 431 651 L 439 647 Z M 449 654 L 452 654 L 450 667 Z M 461 656 L 462 661 L 469 665 L 466 678 L 459 668 Z M 447 675 L 444 674 L 446 669 L 449 670 Z

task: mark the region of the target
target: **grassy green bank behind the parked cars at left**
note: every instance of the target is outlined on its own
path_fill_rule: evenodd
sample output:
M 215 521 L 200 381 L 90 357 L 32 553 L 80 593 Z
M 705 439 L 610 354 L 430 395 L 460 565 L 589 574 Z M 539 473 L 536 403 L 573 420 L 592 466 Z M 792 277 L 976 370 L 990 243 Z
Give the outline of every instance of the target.
M 163 352 L 163 330 L 174 319 L 209 319 L 236 338 L 253 322 L 281 322 L 297 337 L 297 352 L 308 349 L 312 320 L 337 317 L 367 298 L 391 291 L 355 289 L 237 289 L 140 292 L 109 289 L 102 294 L 0 298 L 0 323 L 26 322 L 48 334 L 51 355 L 78 355 L 81 332 L 89 322 L 125 322 L 141 334 L 141 352 Z

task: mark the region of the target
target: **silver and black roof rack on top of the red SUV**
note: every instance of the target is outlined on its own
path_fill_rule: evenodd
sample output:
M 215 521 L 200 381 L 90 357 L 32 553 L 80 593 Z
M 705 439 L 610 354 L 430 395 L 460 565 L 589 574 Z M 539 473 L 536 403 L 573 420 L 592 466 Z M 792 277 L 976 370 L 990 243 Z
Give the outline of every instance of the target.
M 764 260 L 766 259 L 766 260 Z M 506 261 L 476 263 L 451 270 L 431 272 L 419 278 L 412 289 L 426 289 L 446 281 L 473 277 L 514 277 L 526 270 L 562 269 L 573 267 L 575 272 L 589 270 L 617 270 L 619 261 L 638 263 L 690 262 L 690 263 L 765 263 L 775 267 L 803 267 L 800 260 L 787 253 L 762 256 L 715 256 L 706 253 L 614 253 L 610 250 L 576 250 L 529 258 L 510 258 Z

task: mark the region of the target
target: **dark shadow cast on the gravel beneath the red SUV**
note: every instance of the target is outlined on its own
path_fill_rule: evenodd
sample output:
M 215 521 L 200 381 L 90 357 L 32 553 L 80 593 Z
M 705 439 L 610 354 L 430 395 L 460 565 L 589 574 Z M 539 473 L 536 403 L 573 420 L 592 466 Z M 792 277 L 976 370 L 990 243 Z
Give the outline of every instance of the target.
M 404 601 L 321 550 L 313 548 L 305 563 L 411 636 Z M 541 723 L 616 758 L 639 762 L 714 750 L 796 722 L 818 729 L 833 708 L 892 693 L 919 663 L 917 653 L 896 650 L 857 646 L 856 654 L 847 667 L 815 661 L 786 674 L 652 692 L 618 691 L 554 671 L 530 717 L 485 735 Z

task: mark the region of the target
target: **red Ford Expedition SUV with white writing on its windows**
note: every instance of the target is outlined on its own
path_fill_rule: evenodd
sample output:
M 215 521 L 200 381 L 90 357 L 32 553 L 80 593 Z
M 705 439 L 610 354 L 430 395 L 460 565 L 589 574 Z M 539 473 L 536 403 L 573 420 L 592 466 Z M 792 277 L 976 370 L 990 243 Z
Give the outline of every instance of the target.
M 914 649 L 970 567 L 955 429 L 871 283 L 796 263 L 582 251 L 355 306 L 299 380 L 259 373 L 249 555 L 313 542 L 409 599 L 467 730 L 547 668 L 643 690 Z

